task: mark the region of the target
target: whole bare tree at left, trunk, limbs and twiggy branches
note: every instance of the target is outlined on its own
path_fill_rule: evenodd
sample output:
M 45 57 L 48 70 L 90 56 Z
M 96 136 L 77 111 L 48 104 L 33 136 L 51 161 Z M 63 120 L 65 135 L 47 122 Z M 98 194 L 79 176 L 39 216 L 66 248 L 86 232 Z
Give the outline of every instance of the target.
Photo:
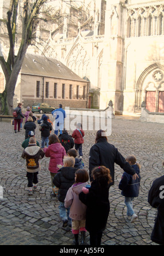
M 17 12 L 19 1 L 22 1 L 24 3 L 21 14 L 22 33 L 19 50 L 15 56 L 17 19 L 20 15 Z M 13 113 L 13 98 L 17 77 L 22 67 L 27 48 L 35 41 L 33 35 L 37 22 L 39 22 L 40 20 L 43 20 L 45 22 L 52 20 L 57 25 L 59 25 L 62 18 L 64 16 L 67 16 L 67 13 L 61 14 L 60 11 L 55 8 L 54 10 L 53 8 L 51 10 L 45 10 L 43 6 L 45 6 L 45 3 L 48 2 L 50 3 L 49 0 L 10 0 L 9 9 L 7 12 L 7 19 L 0 20 L 7 27 L 9 39 L 9 51 L 7 58 L 4 57 L 0 47 L 0 65 L 3 69 L 5 77 L 5 89 L 3 93 L 0 94 L 0 107 L 1 113 L 3 114 Z M 61 2 L 65 2 L 65 4 L 68 5 L 68 8 L 75 6 L 76 9 L 81 10 L 81 1 L 61 0 Z

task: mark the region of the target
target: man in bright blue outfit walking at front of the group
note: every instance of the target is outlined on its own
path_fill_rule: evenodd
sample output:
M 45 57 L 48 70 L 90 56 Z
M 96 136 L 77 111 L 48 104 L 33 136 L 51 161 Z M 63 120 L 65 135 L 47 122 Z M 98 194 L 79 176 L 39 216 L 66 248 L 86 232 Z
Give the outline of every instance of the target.
M 60 134 L 62 134 L 65 118 L 67 117 L 65 110 L 62 109 L 62 104 L 59 104 L 58 109 L 52 111 L 52 117 L 55 118 L 55 134 L 58 135 L 58 129 L 60 130 Z

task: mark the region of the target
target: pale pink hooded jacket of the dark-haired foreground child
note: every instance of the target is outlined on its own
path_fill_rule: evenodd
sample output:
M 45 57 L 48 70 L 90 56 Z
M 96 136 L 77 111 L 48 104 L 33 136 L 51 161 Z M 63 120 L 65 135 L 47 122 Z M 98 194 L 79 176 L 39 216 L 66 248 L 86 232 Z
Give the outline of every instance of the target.
M 70 208 L 69 217 L 74 220 L 82 220 L 86 218 L 86 205 L 79 200 L 79 194 L 82 191 L 83 187 L 86 187 L 88 183 L 78 183 L 72 185 L 69 188 L 66 199 L 65 199 L 65 207 Z

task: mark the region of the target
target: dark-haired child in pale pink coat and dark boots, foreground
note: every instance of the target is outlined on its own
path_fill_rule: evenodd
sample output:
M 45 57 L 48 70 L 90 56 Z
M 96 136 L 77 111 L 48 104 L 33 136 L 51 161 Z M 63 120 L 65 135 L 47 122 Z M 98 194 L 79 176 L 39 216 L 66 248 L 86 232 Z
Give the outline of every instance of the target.
M 69 217 L 72 218 L 72 233 L 75 237 L 75 245 L 79 245 L 79 230 L 81 232 L 81 245 L 85 244 L 86 205 L 79 200 L 79 194 L 83 187 L 88 184 L 88 180 L 89 174 L 85 169 L 77 170 L 75 172 L 75 184 L 69 188 L 65 199 L 65 207 L 71 206 Z

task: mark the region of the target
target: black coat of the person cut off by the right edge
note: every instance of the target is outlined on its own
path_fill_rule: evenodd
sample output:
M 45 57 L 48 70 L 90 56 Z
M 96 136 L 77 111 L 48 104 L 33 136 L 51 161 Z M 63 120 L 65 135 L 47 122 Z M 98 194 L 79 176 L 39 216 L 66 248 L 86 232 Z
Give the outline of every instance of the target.
M 164 245 L 164 176 L 156 179 L 149 190 L 148 202 L 157 208 L 157 217 L 151 234 L 151 240 Z

